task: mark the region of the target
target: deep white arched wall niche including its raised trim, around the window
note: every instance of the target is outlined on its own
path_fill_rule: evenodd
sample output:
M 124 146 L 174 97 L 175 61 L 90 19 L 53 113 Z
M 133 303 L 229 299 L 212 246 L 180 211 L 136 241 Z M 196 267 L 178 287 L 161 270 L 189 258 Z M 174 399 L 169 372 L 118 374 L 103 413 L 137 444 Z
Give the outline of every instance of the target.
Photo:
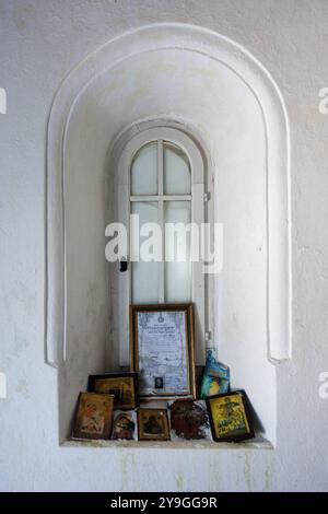
M 52 104 L 46 362 L 59 369 L 60 441 L 87 375 L 117 366 L 104 258 L 108 149 L 154 120 L 185 130 L 207 155 L 211 217 L 224 225 L 224 266 L 210 289 L 213 339 L 274 443 L 273 364 L 291 358 L 288 117 L 249 52 L 183 24 L 110 40 L 72 70 Z

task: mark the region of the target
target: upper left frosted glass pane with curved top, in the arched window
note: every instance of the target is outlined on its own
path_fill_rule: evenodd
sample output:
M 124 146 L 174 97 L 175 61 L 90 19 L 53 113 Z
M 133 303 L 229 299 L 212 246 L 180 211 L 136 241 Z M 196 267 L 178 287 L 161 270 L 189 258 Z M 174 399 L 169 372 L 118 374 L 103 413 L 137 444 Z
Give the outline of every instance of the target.
M 142 147 L 131 165 L 131 195 L 157 194 L 157 143 Z

